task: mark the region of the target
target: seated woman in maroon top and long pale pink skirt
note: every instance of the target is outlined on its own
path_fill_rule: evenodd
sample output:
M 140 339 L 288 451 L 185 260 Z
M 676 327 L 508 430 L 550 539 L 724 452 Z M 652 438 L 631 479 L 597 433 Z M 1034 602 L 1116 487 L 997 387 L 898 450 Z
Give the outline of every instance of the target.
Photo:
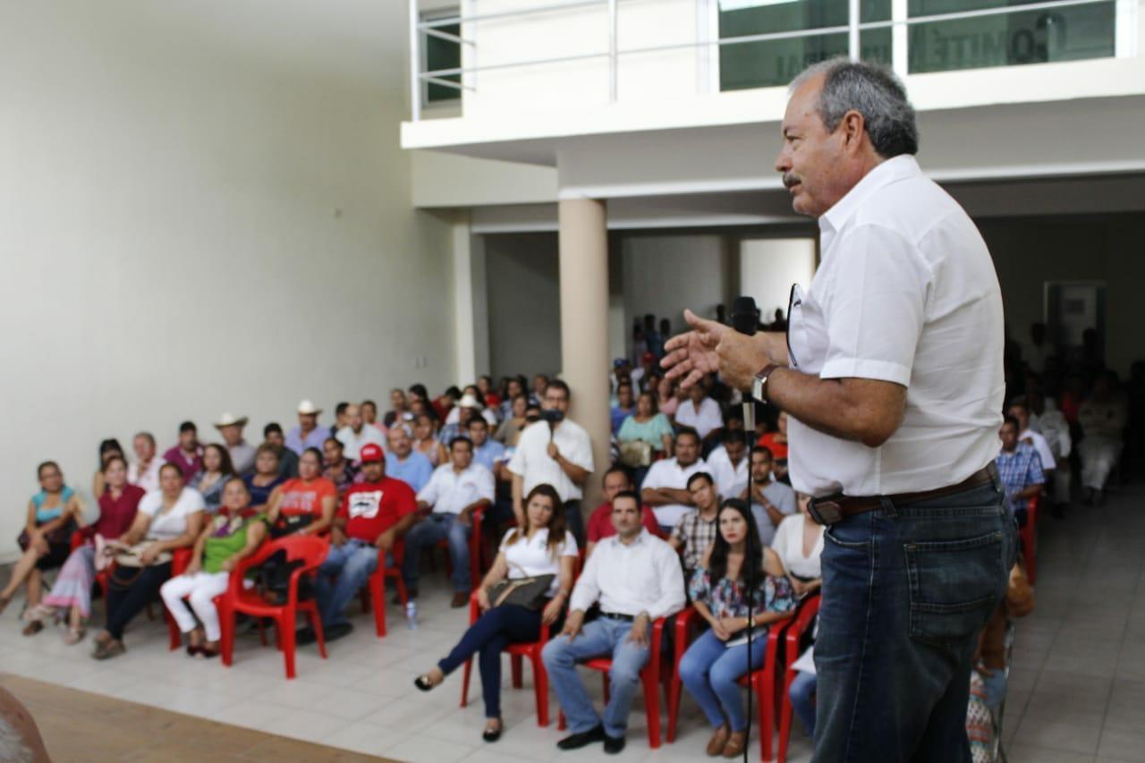
M 65 644 L 78 644 L 84 639 L 87 619 L 92 614 L 92 583 L 96 572 L 96 540 L 98 543 L 114 541 L 131 528 L 135 521 L 140 501 L 145 495 L 143 488 L 127 482 L 127 462 L 123 456 L 112 456 L 103 467 L 108 486 L 100 496 L 100 518 L 82 529 L 84 544 L 71 552 L 56 577 L 52 592 L 44 598 L 47 611 L 44 616 L 56 614 L 68 616 Z M 102 566 L 102 565 L 101 565 Z

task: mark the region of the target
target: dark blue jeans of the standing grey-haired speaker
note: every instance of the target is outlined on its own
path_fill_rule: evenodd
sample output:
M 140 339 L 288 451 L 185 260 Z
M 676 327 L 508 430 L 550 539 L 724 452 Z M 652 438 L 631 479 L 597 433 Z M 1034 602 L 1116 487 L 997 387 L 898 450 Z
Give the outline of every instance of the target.
M 1016 542 L 995 485 L 827 528 L 816 763 L 970 761 L 971 659 Z

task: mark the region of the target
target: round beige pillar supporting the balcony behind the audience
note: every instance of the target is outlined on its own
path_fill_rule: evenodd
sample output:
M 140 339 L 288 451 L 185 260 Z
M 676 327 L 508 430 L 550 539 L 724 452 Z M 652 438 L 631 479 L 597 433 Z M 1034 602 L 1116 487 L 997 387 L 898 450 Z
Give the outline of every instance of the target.
M 600 503 L 600 475 L 610 461 L 606 222 L 603 202 L 560 202 L 561 376 L 572 391 L 569 418 L 592 438 L 595 471 L 585 485 L 586 514 Z

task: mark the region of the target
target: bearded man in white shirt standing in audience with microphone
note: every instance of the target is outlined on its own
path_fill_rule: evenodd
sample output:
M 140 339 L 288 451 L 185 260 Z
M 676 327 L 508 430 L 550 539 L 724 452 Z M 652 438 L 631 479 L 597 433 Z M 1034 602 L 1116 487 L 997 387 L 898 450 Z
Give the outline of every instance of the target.
M 513 479 L 513 513 L 524 525 L 523 500 L 538 485 L 548 483 L 564 502 L 567 527 L 578 544 L 584 543 L 581 498 L 592 473 L 592 441 L 579 424 L 564 418 L 569 411 L 569 386 L 561 379 L 545 387 L 542 420 L 530 424 L 516 442 L 508 462 Z

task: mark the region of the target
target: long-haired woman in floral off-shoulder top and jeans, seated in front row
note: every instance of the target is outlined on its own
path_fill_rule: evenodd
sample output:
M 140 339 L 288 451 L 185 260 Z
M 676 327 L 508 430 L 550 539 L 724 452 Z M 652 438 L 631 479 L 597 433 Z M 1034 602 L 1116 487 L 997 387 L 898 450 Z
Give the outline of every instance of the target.
M 763 666 L 767 629 L 791 616 L 795 595 L 779 557 L 759 542 L 747 503 L 725 501 L 718 521 L 716 542 L 688 587 L 692 604 L 711 629 L 684 654 L 680 678 L 716 730 L 708 755 L 739 757 L 748 744 L 740 677 Z M 756 589 L 750 611 L 749 573 Z M 749 630 L 755 642 L 750 666 Z

